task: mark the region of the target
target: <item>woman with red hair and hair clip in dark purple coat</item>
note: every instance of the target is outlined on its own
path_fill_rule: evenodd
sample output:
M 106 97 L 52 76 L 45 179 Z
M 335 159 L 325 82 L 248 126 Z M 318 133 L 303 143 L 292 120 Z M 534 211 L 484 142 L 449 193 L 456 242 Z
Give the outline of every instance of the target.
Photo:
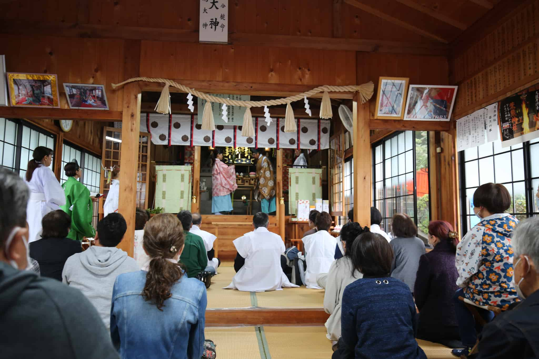
M 419 258 L 413 294 L 419 309 L 417 337 L 461 348 L 453 295 L 459 274 L 455 268 L 458 235 L 446 221 L 429 223 L 432 248 Z

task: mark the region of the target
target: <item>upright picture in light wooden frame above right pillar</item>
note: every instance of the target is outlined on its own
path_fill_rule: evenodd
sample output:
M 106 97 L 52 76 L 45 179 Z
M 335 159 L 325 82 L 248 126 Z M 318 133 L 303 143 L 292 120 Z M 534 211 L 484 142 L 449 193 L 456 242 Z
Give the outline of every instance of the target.
M 409 78 L 379 77 L 375 118 L 403 118 L 409 80 Z

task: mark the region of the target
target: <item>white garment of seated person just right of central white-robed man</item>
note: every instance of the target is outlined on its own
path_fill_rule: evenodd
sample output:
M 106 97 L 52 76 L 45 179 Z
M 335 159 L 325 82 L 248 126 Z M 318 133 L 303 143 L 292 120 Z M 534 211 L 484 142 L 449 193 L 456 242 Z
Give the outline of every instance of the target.
M 337 240 L 328 231 L 319 230 L 301 238 L 301 241 L 305 247 L 305 261 L 307 262 L 307 271 L 305 272 L 307 288 L 323 289 L 316 283 L 316 276 L 329 272 L 329 267 L 335 259 Z

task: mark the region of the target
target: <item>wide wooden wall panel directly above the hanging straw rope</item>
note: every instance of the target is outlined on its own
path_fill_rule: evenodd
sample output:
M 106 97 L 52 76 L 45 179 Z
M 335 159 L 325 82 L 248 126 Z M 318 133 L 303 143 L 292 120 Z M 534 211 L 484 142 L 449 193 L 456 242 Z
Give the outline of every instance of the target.
M 353 85 L 356 52 L 142 41 L 141 76 Z

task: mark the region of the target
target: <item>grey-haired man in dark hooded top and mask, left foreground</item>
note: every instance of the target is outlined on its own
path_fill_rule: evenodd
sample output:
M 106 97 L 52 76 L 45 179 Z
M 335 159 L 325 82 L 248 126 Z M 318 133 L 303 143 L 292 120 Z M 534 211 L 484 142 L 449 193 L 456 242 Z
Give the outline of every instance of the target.
M 84 295 L 29 265 L 29 189 L 0 168 L 0 336 L 3 358 L 118 359 L 110 334 Z M 79 335 L 91 332 L 92 335 Z

